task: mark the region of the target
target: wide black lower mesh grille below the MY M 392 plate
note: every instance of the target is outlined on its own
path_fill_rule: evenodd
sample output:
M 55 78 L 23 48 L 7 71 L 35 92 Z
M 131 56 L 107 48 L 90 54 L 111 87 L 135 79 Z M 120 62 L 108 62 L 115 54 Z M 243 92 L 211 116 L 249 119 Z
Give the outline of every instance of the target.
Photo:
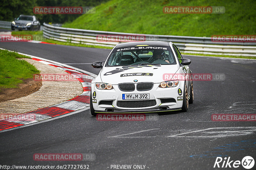
M 142 108 L 155 105 L 156 100 L 117 101 L 117 106 L 123 108 Z

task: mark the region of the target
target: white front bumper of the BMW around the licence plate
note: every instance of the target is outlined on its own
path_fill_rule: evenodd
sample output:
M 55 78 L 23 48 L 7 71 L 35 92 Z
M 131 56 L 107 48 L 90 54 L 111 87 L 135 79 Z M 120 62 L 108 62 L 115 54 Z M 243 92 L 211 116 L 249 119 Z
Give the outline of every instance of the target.
M 148 91 L 137 91 L 136 89 L 132 92 L 124 92 L 118 88 L 118 85 L 113 85 L 114 89 L 111 90 L 101 90 L 95 87 L 95 83 L 92 83 L 92 94 L 96 92 L 96 96 L 92 96 L 92 105 L 96 113 L 137 113 L 137 112 L 163 112 L 163 111 L 173 111 L 181 110 L 183 105 L 183 100 L 178 100 L 178 97 L 183 96 L 184 81 L 180 81 L 178 86 L 171 88 L 160 88 L 158 87 L 160 83 L 155 83 L 153 88 Z M 136 86 L 136 83 L 135 83 Z M 178 89 L 181 89 L 182 94 L 178 94 Z M 149 93 L 149 99 L 133 99 L 133 100 L 123 100 L 123 94 L 146 94 Z M 163 102 L 163 99 L 170 99 L 171 102 Z M 141 103 L 146 100 L 155 100 L 154 105 L 149 107 L 119 107 L 118 101 L 124 101 L 133 103 L 133 101 L 139 101 Z M 101 102 L 103 101 L 103 102 Z M 107 104 L 106 104 L 106 101 Z M 120 104 L 119 104 L 120 105 Z

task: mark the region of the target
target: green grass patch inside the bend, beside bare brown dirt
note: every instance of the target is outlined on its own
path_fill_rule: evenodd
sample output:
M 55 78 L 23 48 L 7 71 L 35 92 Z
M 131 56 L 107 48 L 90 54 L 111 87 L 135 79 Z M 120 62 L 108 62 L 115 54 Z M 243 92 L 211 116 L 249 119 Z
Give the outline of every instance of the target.
M 16 58 L 29 58 L 15 52 L 0 50 L 0 91 L 4 88 L 17 88 L 23 80 L 33 78 L 39 70 L 25 60 Z

